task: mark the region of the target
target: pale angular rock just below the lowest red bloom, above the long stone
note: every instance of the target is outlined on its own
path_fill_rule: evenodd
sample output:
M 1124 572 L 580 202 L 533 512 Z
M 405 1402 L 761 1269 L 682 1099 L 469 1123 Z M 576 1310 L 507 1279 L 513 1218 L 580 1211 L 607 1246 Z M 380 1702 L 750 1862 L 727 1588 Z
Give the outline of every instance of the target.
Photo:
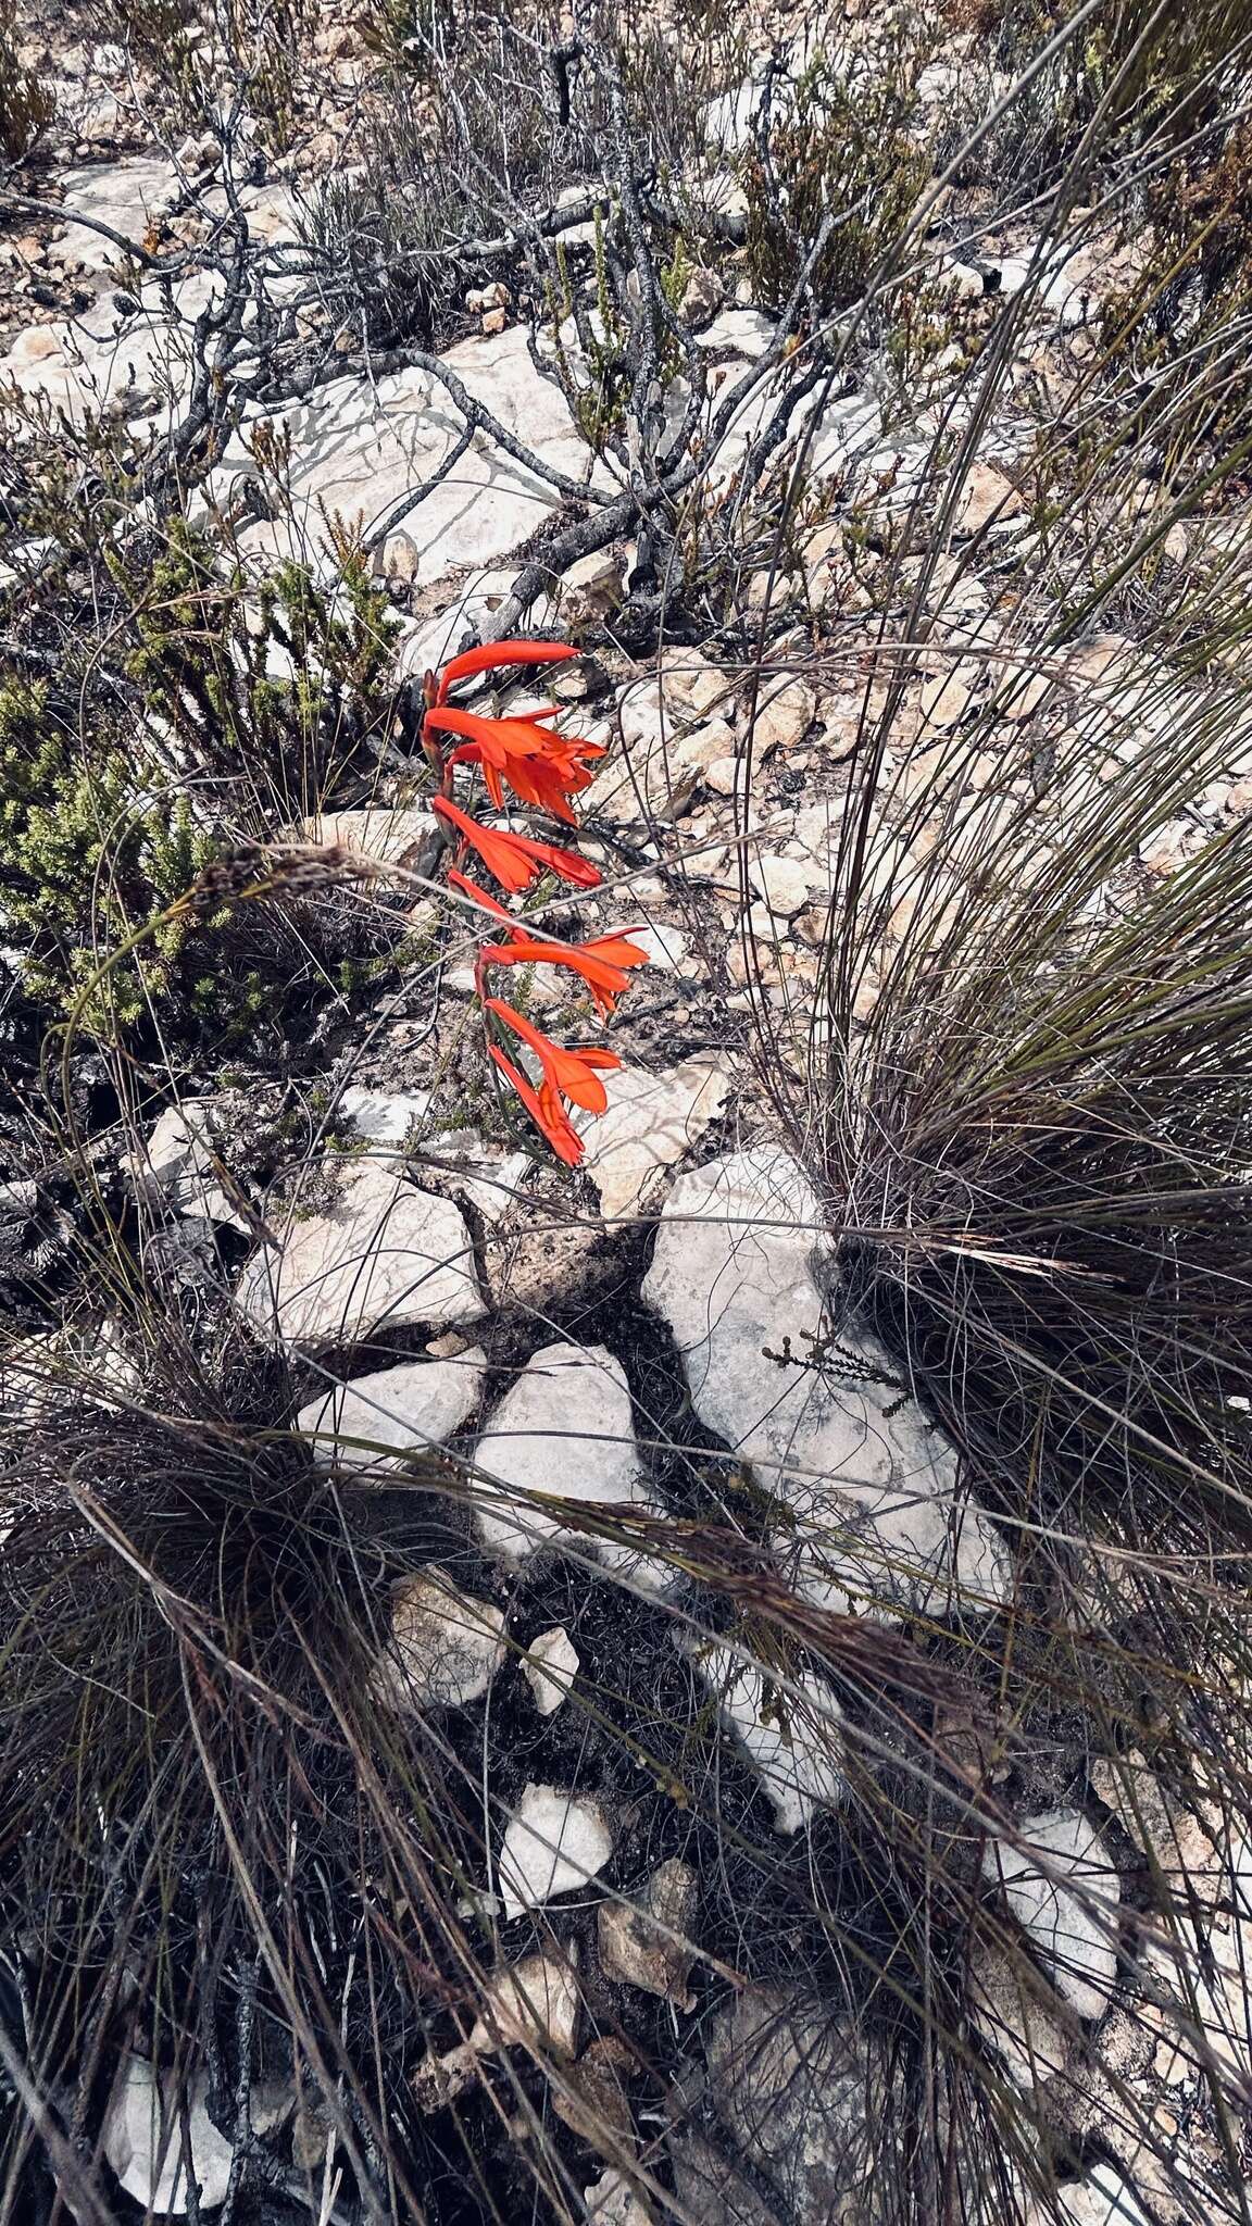
M 577 1115 L 577 1129 L 599 1211 L 613 1222 L 639 1213 L 666 1169 L 700 1142 L 731 1095 L 731 1077 L 715 1053 L 702 1051 L 666 1075 L 622 1064 L 604 1089 L 608 1111 Z

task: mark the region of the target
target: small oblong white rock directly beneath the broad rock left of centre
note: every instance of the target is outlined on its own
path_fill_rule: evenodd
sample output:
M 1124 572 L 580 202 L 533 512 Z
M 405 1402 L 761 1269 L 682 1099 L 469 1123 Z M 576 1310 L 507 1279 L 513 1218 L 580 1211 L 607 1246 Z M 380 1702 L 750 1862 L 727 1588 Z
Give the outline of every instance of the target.
M 454 1360 L 405 1360 L 374 1369 L 350 1385 L 334 1385 L 296 1416 L 305 1438 L 319 1438 L 314 1458 L 323 1467 L 363 1469 L 388 1483 L 405 1474 L 405 1454 L 448 1438 L 470 1418 L 486 1376 L 481 1345 Z M 365 1438 L 368 1445 L 352 1445 Z

